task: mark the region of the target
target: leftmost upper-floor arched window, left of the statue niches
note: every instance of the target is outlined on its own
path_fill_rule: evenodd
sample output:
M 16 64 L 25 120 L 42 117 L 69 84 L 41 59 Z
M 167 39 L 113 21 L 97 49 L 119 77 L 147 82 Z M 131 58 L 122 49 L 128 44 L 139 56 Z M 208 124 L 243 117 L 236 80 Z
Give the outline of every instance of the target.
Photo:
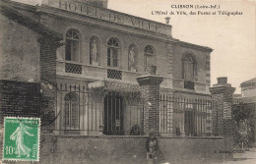
M 77 29 L 69 29 L 66 32 L 66 60 L 79 62 L 80 39 L 80 32 Z

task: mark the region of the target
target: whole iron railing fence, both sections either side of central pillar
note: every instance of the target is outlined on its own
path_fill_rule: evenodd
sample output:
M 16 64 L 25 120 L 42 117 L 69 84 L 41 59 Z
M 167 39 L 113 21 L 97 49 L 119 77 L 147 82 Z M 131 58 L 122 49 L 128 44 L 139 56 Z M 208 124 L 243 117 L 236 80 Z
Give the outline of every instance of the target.
M 140 92 L 89 89 L 60 83 L 56 102 L 56 131 L 63 135 L 144 135 L 144 100 Z M 208 99 L 160 95 L 160 134 L 219 136 L 218 111 Z

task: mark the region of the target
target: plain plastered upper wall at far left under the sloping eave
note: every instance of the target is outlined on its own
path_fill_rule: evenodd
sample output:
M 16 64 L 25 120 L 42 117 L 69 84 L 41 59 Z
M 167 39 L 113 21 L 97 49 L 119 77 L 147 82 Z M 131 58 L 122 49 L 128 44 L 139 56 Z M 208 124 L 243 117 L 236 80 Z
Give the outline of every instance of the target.
M 39 82 L 38 34 L 2 15 L 0 22 L 0 80 Z

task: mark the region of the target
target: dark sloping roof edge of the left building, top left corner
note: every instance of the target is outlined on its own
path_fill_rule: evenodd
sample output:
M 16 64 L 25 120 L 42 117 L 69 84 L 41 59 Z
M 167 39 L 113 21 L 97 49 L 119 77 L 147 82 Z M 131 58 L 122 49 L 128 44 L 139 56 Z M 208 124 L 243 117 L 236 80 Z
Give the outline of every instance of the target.
M 21 26 L 32 29 L 32 31 L 40 34 L 41 36 L 45 36 L 49 40 L 60 41 L 63 39 L 61 33 L 50 30 L 39 22 L 32 20 L 30 17 L 21 14 L 18 10 L 14 9 L 11 4 L 12 2 L 8 0 L 0 1 L 0 14 Z

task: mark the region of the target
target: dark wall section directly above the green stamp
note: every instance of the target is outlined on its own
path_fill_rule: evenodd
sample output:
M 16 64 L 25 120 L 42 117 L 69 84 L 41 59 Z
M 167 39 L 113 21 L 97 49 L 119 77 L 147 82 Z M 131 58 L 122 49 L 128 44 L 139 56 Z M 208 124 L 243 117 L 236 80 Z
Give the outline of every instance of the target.
M 39 83 L 0 81 L 0 130 L 4 116 L 38 117 L 39 110 Z

